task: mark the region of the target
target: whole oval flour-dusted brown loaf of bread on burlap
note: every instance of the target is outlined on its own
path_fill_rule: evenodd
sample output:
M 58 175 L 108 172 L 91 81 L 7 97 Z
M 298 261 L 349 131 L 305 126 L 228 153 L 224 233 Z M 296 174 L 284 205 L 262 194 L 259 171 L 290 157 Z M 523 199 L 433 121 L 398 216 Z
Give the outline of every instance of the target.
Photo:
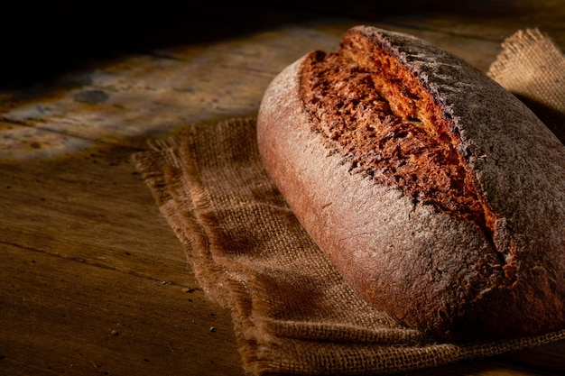
M 479 70 L 357 26 L 273 79 L 257 133 L 301 225 L 376 309 L 451 340 L 565 328 L 565 146 Z

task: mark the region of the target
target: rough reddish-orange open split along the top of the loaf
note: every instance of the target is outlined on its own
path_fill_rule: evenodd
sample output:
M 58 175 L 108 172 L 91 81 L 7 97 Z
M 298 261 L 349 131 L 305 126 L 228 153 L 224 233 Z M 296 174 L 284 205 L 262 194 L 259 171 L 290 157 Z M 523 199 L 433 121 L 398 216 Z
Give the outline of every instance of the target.
M 354 34 L 337 52 L 310 53 L 300 81 L 313 129 L 351 170 L 492 234 L 493 214 L 458 154 L 452 119 L 392 56 Z

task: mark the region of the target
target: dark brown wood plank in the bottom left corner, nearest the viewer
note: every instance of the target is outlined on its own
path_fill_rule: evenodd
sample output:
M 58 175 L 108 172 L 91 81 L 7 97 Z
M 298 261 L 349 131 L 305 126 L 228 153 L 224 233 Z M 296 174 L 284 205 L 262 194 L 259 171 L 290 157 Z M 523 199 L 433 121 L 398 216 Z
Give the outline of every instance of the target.
M 243 373 L 228 312 L 199 290 L 6 243 L 0 252 L 1 374 Z

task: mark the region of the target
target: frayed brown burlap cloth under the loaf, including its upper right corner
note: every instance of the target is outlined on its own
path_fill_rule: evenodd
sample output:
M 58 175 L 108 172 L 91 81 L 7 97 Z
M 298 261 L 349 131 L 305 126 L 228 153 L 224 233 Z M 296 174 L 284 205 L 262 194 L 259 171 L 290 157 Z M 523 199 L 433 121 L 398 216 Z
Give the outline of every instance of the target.
M 565 60 L 551 41 L 533 30 L 517 32 L 503 47 L 491 77 L 543 104 L 545 120 L 565 114 Z M 134 154 L 136 167 L 208 298 L 231 309 L 249 374 L 410 371 L 565 339 L 561 331 L 441 343 L 369 307 L 312 243 L 266 175 L 253 119 L 187 126 L 151 144 L 153 150 Z

